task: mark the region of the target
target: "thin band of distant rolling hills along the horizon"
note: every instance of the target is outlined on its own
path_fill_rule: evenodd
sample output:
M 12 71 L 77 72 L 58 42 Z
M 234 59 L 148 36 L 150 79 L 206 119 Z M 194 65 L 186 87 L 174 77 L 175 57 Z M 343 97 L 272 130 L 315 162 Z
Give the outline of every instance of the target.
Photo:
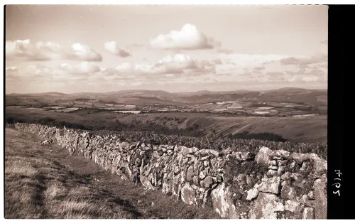
M 178 104 L 178 103 L 208 103 L 222 101 L 255 101 L 255 102 L 292 102 L 327 105 L 327 90 L 312 90 L 285 87 L 276 90 L 249 91 L 235 90 L 228 92 L 212 92 L 202 90 L 197 92 L 170 93 L 163 90 L 121 90 L 116 92 L 82 92 L 64 94 L 59 92 L 45 92 L 37 94 L 6 95 L 6 105 L 35 102 L 53 102 L 58 99 L 97 99 L 106 102 L 130 104 Z

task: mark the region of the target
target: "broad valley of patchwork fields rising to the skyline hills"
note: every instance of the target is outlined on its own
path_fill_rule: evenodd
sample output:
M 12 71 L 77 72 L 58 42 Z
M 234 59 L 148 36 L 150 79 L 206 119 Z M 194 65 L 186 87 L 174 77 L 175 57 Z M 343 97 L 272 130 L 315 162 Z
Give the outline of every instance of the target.
M 65 95 L 44 93 L 6 95 L 6 107 L 45 108 L 60 106 L 82 109 L 139 110 L 145 112 L 211 112 L 239 116 L 288 117 L 327 114 L 327 92 L 285 88 L 267 92 L 122 91 L 102 94 Z

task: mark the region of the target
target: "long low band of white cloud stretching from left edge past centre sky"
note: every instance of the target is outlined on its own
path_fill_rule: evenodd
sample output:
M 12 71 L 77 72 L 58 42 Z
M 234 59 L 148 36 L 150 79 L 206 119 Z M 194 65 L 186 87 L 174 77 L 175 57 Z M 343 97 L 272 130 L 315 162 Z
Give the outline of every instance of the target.
M 32 82 L 139 82 L 152 83 L 160 80 L 179 80 L 182 77 L 203 77 L 215 73 L 214 64 L 208 60 L 194 60 L 190 55 L 168 55 L 154 63 L 121 63 L 115 68 L 99 68 L 93 63 L 62 63 L 52 68 L 31 65 L 26 68 L 6 68 L 6 80 Z

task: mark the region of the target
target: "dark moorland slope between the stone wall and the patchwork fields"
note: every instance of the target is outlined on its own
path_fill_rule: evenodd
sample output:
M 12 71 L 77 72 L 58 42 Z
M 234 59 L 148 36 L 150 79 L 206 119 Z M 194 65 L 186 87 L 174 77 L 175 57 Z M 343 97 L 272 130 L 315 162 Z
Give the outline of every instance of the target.
M 110 112 L 89 112 L 82 110 L 73 113 L 45 112 L 28 109 L 8 109 L 6 117 L 19 119 L 41 119 L 53 117 L 65 122 L 90 125 L 114 125 L 116 120 L 122 123 L 146 124 L 154 122 L 169 128 L 177 126 L 185 128 L 198 124 L 202 128 L 215 129 L 222 134 L 236 134 L 244 131 L 251 133 L 273 133 L 285 139 L 295 141 L 327 141 L 327 117 L 305 118 L 273 118 L 273 117 L 236 117 L 206 113 L 165 113 L 165 114 L 115 114 Z

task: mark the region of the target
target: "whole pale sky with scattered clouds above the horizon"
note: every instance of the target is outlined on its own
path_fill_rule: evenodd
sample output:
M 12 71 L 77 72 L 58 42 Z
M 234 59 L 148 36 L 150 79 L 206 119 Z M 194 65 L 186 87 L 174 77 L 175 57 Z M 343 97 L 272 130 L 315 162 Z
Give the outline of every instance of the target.
M 324 89 L 327 11 L 6 5 L 6 94 Z

